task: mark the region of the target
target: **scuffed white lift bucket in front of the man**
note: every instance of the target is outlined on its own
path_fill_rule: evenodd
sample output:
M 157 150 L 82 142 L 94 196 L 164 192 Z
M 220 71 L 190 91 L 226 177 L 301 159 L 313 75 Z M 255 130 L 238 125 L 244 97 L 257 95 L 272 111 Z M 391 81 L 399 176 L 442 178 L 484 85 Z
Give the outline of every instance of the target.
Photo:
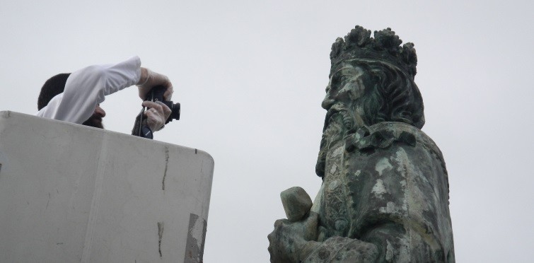
M 202 261 L 204 151 L 4 111 L 0 164 L 0 262 Z

